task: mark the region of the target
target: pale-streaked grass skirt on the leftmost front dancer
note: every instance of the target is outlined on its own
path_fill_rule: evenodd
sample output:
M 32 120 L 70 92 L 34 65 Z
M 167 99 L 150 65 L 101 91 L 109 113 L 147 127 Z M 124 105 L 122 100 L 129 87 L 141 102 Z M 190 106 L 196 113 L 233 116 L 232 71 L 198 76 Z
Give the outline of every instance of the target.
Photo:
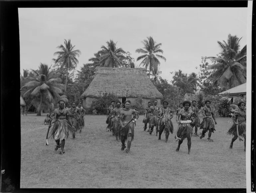
M 66 119 L 56 120 L 52 126 L 48 139 L 52 137 L 52 139 L 60 139 L 60 141 L 62 141 L 63 139 L 68 138 L 69 132 L 72 133 L 73 128 Z

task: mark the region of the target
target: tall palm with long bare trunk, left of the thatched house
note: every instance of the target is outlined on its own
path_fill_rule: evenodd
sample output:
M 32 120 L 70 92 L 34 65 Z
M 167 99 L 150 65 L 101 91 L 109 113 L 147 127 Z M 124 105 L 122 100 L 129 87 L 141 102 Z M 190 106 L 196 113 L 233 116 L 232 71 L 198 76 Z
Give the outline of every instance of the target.
M 68 41 L 64 39 L 64 45 L 60 45 L 57 48 L 61 49 L 61 51 L 55 52 L 54 55 L 58 55 L 58 58 L 55 60 L 55 63 L 61 61 L 62 66 L 61 68 L 66 68 L 66 81 L 65 81 L 65 90 L 66 93 L 67 89 L 67 75 L 68 70 L 73 67 L 76 67 L 78 64 L 78 60 L 76 57 L 79 57 L 81 54 L 80 50 L 73 50 L 75 46 L 72 46 L 70 39 Z

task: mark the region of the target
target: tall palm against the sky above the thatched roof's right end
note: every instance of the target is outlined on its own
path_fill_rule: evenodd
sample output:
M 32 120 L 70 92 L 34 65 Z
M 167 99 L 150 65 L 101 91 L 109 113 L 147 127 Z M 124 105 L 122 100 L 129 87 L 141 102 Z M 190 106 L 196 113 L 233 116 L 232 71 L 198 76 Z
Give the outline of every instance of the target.
M 149 69 L 152 74 L 156 74 L 158 71 L 158 66 L 160 65 L 160 61 L 158 60 L 158 58 L 166 61 L 166 58 L 164 56 L 157 54 L 159 52 L 164 52 L 162 49 L 160 49 L 162 43 L 155 42 L 153 37 L 151 36 L 147 37 L 147 39 L 144 39 L 142 43 L 144 44 L 144 49 L 138 48 L 135 52 L 143 53 L 144 55 L 139 56 L 137 58 L 137 61 L 143 59 L 140 65 L 143 65 L 145 69 Z

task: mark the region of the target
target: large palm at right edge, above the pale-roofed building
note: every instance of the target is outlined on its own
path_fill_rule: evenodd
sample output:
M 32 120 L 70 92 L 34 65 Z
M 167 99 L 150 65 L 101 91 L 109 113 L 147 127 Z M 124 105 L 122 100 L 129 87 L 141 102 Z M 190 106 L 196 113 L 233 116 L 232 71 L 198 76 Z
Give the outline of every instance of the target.
M 227 43 L 217 41 L 221 52 L 218 57 L 207 57 L 213 59 L 217 63 L 208 66 L 205 70 L 214 71 L 210 74 L 210 78 L 220 84 L 228 84 L 229 88 L 246 83 L 246 45 L 239 51 L 239 39 L 236 35 L 228 35 Z

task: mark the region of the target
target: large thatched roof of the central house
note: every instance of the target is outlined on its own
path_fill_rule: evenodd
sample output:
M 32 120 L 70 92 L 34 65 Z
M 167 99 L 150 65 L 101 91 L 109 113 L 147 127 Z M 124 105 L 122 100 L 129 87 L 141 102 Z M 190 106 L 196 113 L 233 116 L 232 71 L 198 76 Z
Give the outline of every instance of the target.
M 81 97 L 97 98 L 105 92 L 119 98 L 163 98 L 143 68 L 97 67 L 94 79 Z

